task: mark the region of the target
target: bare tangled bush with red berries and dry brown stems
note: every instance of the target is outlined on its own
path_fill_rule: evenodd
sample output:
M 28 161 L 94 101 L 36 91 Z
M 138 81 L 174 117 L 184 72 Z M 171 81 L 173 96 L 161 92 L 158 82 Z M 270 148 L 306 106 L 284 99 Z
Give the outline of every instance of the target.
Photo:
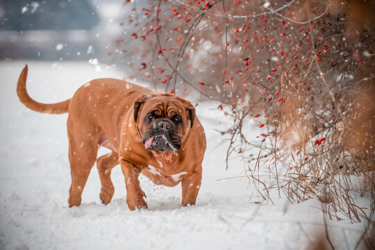
M 374 210 L 374 1 L 341 2 L 126 3 L 112 63 L 153 88 L 221 101 L 233 118 L 221 131 L 227 167 L 241 156 L 265 200 L 270 188 L 291 202 L 318 197 L 331 218 L 359 222 L 358 194 Z M 249 121 L 267 128 L 262 140 L 250 140 Z

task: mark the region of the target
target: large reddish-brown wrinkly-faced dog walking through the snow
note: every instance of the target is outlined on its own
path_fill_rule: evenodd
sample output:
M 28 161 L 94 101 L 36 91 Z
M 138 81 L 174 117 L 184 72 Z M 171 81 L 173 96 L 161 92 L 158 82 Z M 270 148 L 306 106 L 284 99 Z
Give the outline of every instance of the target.
M 19 100 L 40 113 L 69 113 L 67 133 L 72 185 L 69 207 L 81 204 L 90 169 L 97 160 L 100 199 L 110 203 L 115 189 L 110 180 L 120 164 L 130 210 L 147 208 L 138 176 L 172 187 L 181 181 L 182 204 L 194 205 L 201 186 L 206 136 L 189 101 L 173 94 L 113 78 L 92 80 L 74 97 L 60 103 L 38 103 L 26 91 L 27 65 L 17 83 Z M 100 146 L 112 150 L 97 158 Z

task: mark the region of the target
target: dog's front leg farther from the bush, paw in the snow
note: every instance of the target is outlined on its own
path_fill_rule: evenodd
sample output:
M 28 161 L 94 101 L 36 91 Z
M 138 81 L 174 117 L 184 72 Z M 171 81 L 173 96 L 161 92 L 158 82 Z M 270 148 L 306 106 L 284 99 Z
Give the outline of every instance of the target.
M 128 203 L 128 208 L 130 210 L 147 208 L 147 203 L 143 199 L 146 195 L 140 188 L 140 181 L 138 180 L 141 169 L 123 159 L 120 160 L 120 164 L 125 177 L 126 203 Z

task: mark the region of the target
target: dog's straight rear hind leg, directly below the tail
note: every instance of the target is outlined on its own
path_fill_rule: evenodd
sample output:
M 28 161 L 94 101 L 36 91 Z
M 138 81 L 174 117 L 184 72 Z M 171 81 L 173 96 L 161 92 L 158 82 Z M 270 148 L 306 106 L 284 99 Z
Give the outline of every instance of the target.
M 69 189 L 69 208 L 81 204 L 81 194 L 85 188 L 95 160 L 97 160 L 99 135 L 90 133 L 89 128 L 75 127 L 68 118 L 69 162 L 72 184 Z M 84 131 L 84 132 L 83 132 Z

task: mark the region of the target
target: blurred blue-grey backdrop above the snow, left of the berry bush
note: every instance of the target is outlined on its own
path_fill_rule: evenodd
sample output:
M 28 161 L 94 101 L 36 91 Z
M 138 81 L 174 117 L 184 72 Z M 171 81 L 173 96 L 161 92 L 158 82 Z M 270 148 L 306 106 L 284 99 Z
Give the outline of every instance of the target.
M 123 0 L 1 0 L 0 60 L 103 58 L 121 27 Z

